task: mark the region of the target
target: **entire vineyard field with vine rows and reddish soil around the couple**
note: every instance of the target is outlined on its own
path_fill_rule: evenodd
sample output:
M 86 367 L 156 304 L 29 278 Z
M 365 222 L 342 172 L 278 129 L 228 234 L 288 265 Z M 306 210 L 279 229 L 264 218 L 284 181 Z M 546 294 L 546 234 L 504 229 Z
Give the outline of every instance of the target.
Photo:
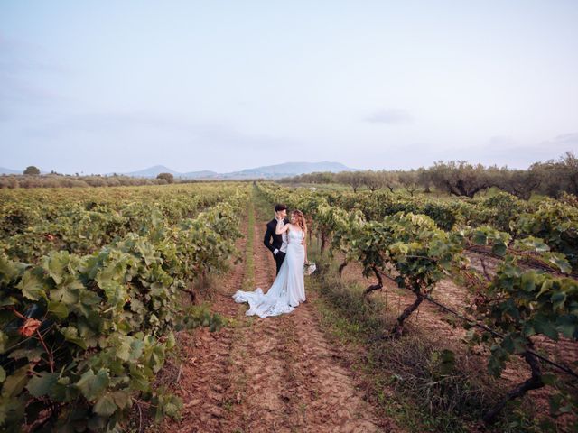
M 273 205 L 308 300 L 247 318 Z M 6 431 L 573 431 L 578 209 L 244 182 L 0 189 Z

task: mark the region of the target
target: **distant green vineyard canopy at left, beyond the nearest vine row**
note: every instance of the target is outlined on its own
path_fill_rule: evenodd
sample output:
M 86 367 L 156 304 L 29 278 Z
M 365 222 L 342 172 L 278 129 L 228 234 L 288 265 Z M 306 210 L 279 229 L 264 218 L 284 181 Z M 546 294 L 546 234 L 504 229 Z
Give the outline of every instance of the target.
M 0 190 L 0 249 L 25 263 L 53 250 L 88 254 L 133 232 L 176 226 L 226 198 L 235 185 Z

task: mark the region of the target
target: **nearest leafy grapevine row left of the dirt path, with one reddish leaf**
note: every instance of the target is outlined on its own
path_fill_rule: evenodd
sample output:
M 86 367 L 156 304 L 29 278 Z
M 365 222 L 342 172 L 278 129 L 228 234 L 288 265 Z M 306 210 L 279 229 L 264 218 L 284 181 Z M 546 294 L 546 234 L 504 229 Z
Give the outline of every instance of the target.
M 204 326 L 214 331 L 224 325 L 206 306 L 184 309 L 181 294 L 201 275 L 225 271 L 236 253 L 238 208 L 247 191 L 226 200 L 221 193 L 189 201 L 194 218 L 183 218 L 189 212 L 178 203 L 172 208 L 168 197 L 163 205 L 123 204 L 119 214 L 107 205 L 98 216 L 106 219 L 110 212 L 108 223 L 122 222 L 108 238 L 102 218 L 73 227 L 94 210 L 68 202 L 65 207 L 77 210 L 61 233 L 80 243 L 78 233 L 88 231 L 91 239 L 105 236 L 107 244 L 85 255 L 39 244 L 47 253 L 31 253 L 34 263 L 0 253 L 2 428 L 19 431 L 24 417 L 32 423 L 42 407 L 51 415 L 46 428 L 112 431 L 120 428 L 135 399 L 148 401 L 157 420 L 177 415 L 180 401 L 151 385 L 175 345 L 174 330 Z M 220 202 L 197 212 L 213 200 Z M 22 202 L 17 206 L 25 209 Z M 35 209 L 46 215 L 42 206 Z M 57 214 L 53 220 L 62 224 L 61 218 Z M 135 231 L 119 228 L 126 225 Z M 68 246 L 74 250 L 72 243 Z

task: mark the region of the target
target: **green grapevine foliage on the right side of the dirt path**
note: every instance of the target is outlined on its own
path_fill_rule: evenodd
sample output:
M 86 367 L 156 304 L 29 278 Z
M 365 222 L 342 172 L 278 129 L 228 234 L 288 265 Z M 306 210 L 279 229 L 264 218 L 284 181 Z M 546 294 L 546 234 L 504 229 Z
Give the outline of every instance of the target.
M 270 201 L 307 209 L 313 231 L 331 239 L 332 250 L 344 253 L 346 263 L 359 262 L 364 275 L 386 275 L 412 290 L 415 305 L 444 277 L 468 276 L 479 295 L 471 315 L 495 331 L 469 332 L 472 342 L 489 346 L 489 373 L 499 377 L 512 355 L 522 355 L 538 386 L 554 386 L 556 379 L 532 366 L 528 350 L 536 335 L 578 339 L 578 282 L 566 276 L 575 271 L 578 252 L 572 203 L 547 199 L 536 206 L 507 193 L 443 202 L 379 191 L 336 195 L 266 184 L 258 189 Z M 433 217 L 423 215 L 425 210 Z M 466 251 L 474 247 L 501 259 L 495 274 L 480 276 L 469 266 Z M 540 267 L 527 269 L 520 261 Z M 412 311 L 406 309 L 398 321 Z M 440 359 L 441 371 L 451 370 L 452 355 Z M 575 410 L 576 399 L 562 386 L 555 390 L 553 407 Z

